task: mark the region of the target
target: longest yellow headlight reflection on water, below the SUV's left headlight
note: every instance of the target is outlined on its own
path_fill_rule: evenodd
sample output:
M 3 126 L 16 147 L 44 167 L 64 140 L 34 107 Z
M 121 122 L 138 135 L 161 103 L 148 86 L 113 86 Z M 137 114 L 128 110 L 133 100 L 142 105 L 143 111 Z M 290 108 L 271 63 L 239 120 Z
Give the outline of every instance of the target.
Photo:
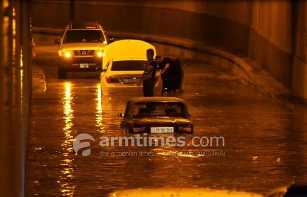
M 61 166 L 64 168 L 61 170 L 61 180 L 57 181 L 61 184 L 61 192 L 63 196 L 74 196 L 75 187 L 71 184 L 71 179 L 73 178 L 72 172 L 74 171 L 73 168 L 73 159 L 69 158 L 71 155 L 71 152 L 73 152 L 72 144 L 73 136 L 72 136 L 72 126 L 73 122 L 72 119 L 73 116 L 73 110 L 72 110 L 72 104 L 73 104 L 73 97 L 71 95 L 71 87 L 72 84 L 67 82 L 64 84 L 65 86 L 65 96 L 62 99 L 63 101 L 63 119 L 65 120 L 65 126 L 63 128 L 63 132 L 65 135 L 65 140 L 63 141 L 62 145 L 62 155 L 65 157 L 61 162 Z M 68 158 L 67 158 L 68 157 Z

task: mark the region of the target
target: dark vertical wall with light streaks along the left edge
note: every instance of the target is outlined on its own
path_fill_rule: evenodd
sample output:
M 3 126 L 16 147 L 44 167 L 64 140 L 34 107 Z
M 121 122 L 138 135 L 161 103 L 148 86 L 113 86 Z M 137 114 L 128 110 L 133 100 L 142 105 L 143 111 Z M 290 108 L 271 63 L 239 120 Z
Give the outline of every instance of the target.
M 0 7 L 0 196 L 24 196 L 32 95 L 30 4 L 0 1 Z

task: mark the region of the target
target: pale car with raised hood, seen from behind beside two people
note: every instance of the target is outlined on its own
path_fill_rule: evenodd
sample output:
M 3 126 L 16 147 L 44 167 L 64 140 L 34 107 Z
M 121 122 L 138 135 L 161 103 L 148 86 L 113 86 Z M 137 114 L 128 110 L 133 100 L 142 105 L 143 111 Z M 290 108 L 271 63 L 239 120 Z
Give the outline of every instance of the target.
M 105 47 L 100 83 L 103 95 L 143 94 L 142 75 L 146 63 L 146 50 L 156 49 L 141 40 L 119 40 Z M 154 94 L 162 94 L 162 78 L 156 73 Z

